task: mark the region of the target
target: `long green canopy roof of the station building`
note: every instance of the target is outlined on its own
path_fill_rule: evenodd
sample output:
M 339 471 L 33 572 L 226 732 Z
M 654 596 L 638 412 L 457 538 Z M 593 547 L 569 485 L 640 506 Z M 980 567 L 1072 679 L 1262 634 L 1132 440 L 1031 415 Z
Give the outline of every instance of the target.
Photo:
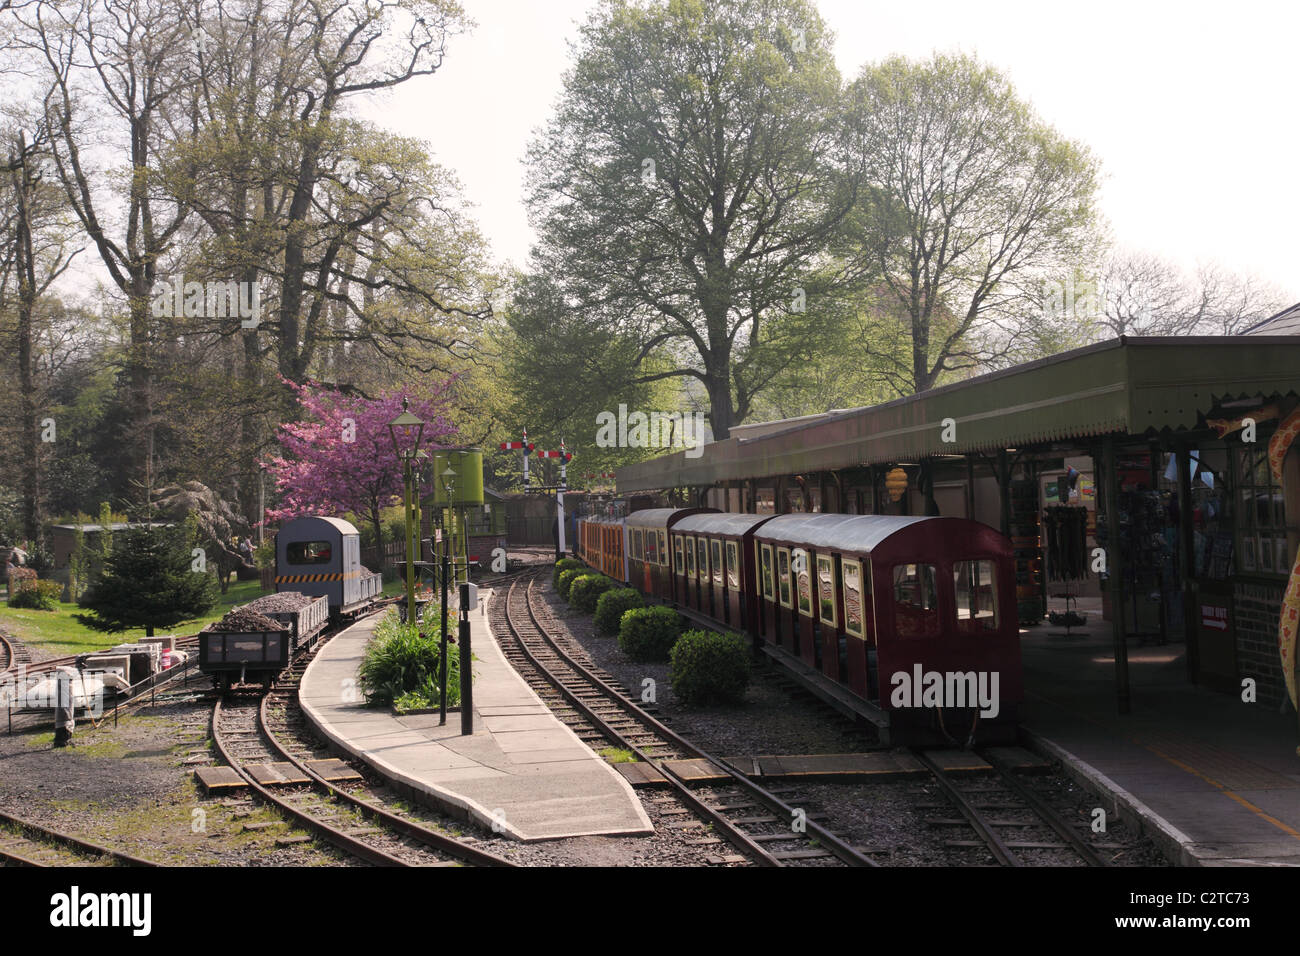
M 751 438 L 740 432 L 698 458 L 679 451 L 619 468 L 618 486 L 710 486 L 1108 433 L 1180 432 L 1202 425 L 1222 401 L 1288 393 L 1300 394 L 1300 337 L 1121 337 Z

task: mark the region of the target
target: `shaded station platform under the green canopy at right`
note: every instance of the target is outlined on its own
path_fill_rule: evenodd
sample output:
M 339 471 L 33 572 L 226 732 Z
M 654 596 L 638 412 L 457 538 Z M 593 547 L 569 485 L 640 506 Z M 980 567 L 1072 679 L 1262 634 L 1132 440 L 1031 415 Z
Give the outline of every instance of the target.
M 1084 601 L 1080 601 L 1084 604 Z M 1100 602 L 1097 602 L 1100 605 Z M 1300 866 L 1296 717 L 1187 682 L 1184 645 L 1130 640 L 1132 711 L 1115 704 L 1110 624 L 1020 632 L 1028 743 L 1109 795 L 1187 866 Z

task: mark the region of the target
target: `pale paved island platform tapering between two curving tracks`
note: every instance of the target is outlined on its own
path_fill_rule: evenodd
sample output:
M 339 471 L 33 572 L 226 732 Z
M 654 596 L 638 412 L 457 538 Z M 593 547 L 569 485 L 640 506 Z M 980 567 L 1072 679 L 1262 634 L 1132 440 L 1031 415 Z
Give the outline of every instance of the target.
M 378 622 L 367 618 L 334 637 L 303 675 L 303 711 L 335 747 L 519 840 L 653 832 L 628 782 L 515 672 L 480 611 L 471 614 L 473 735 L 460 736 L 459 714 L 439 727 L 437 714 L 395 717 L 346 700 L 359 696 L 351 688 Z

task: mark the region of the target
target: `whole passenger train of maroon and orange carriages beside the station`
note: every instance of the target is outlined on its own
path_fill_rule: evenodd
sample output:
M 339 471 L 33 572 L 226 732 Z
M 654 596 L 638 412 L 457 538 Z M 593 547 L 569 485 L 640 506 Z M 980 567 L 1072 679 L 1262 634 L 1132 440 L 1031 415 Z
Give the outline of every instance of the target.
M 1014 740 L 1011 544 L 965 518 L 651 509 L 580 523 L 578 557 L 755 646 L 890 743 Z

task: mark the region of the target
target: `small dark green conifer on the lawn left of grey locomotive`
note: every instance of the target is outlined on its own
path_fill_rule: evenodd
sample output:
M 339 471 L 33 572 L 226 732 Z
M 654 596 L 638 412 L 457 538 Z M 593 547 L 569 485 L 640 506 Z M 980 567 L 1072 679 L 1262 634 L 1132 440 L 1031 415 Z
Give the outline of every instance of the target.
M 77 619 L 108 633 L 143 627 L 152 637 L 157 627 L 202 617 L 217 602 L 217 587 L 212 575 L 194 570 L 196 541 L 192 522 L 120 532 L 104 572 L 82 594 L 91 614 Z

